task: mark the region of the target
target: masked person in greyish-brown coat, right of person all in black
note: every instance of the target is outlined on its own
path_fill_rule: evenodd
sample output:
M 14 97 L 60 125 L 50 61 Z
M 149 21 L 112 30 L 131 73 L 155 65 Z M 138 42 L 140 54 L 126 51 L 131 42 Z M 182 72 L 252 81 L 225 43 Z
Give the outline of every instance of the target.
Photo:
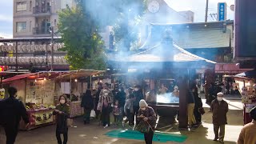
M 113 94 L 111 90 L 109 90 L 106 84 L 104 84 L 103 90 L 99 94 L 99 103 L 102 103 L 102 110 L 101 110 L 102 126 L 110 126 L 110 112 L 111 112 L 112 98 L 113 98 Z

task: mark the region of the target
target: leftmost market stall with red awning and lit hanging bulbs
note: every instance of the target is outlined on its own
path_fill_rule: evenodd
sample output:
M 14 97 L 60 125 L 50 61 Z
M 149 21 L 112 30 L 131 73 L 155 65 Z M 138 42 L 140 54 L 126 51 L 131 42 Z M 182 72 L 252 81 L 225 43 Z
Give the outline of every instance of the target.
M 30 120 L 28 130 L 54 123 L 54 98 L 58 96 L 55 94 L 54 78 L 58 74 L 60 72 L 21 74 L 3 80 L 4 88 L 17 88 L 18 99 L 26 105 Z M 25 130 L 21 123 L 21 129 Z

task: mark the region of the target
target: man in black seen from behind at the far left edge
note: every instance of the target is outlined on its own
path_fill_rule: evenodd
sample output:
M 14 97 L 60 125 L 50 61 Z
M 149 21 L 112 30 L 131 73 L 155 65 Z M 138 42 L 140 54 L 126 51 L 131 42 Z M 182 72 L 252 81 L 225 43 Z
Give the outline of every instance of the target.
M 0 117 L 6 132 L 6 144 L 14 144 L 21 118 L 28 126 L 29 117 L 26 114 L 26 108 L 23 103 L 16 99 L 17 89 L 10 87 L 8 93 L 10 97 L 0 102 Z

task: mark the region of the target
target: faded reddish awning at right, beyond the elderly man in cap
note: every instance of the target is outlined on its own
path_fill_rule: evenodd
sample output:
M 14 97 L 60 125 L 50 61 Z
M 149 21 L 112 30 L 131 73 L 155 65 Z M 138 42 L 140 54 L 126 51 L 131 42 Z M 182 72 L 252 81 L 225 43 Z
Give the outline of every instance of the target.
M 236 63 L 216 63 L 215 73 L 218 74 L 239 74 L 252 69 L 240 69 Z

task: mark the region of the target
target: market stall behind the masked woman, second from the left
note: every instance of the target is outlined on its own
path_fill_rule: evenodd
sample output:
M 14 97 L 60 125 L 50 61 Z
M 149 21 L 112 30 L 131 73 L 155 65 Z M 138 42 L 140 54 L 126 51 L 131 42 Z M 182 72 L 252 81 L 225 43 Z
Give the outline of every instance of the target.
M 87 89 L 93 90 L 96 84 L 92 77 L 104 73 L 103 70 L 74 70 L 56 78 L 56 92 L 66 94 L 70 99 L 70 118 L 81 116 L 84 111 L 81 107 L 82 94 Z M 95 87 L 94 87 L 95 88 Z

